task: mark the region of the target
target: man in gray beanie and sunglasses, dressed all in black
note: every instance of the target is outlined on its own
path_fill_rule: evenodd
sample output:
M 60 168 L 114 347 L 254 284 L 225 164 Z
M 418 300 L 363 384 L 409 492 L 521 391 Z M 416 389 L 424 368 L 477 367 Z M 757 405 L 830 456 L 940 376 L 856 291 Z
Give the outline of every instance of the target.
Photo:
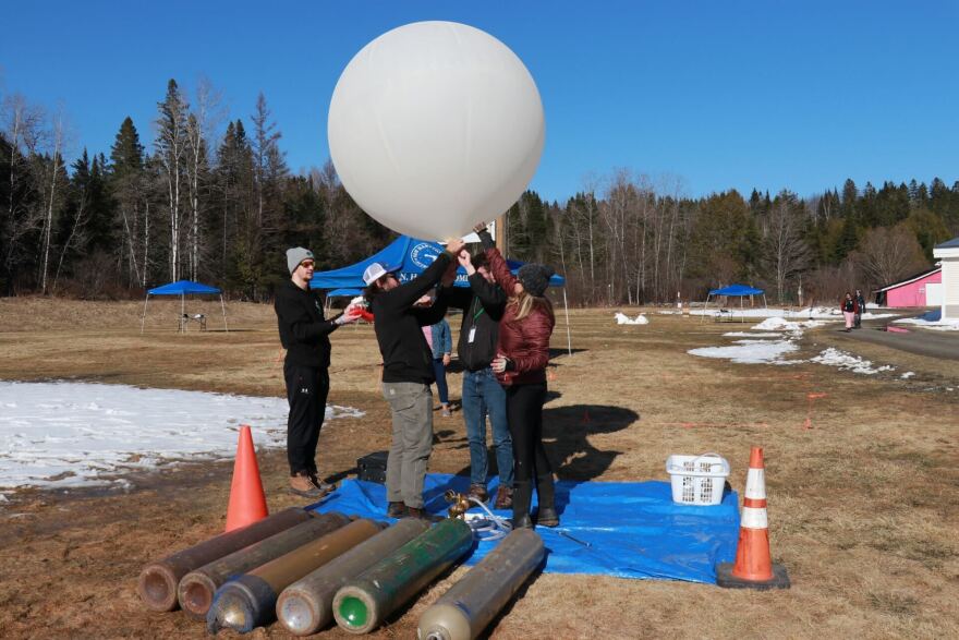
M 280 342 L 287 350 L 283 378 L 290 415 L 287 420 L 287 459 L 290 462 L 290 491 L 318 499 L 336 487 L 319 479 L 316 470 L 316 445 L 326 414 L 329 395 L 329 335 L 340 325 L 356 322 L 359 313 L 326 319 L 323 304 L 309 289 L 315 261 L 313 252 L 302 246 L 287 251 L 290 279 L 277 289 L 274 309 Z

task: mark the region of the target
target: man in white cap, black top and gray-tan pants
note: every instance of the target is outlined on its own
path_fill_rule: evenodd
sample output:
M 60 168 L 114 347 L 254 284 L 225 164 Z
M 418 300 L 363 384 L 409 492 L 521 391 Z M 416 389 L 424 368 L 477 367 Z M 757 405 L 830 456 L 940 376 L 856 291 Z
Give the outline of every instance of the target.
M 391 269 L 373 263 L 363 274 L 364 297 L 375 318 L 383 355 L 383 396 L 392 413 L 392 445 L 386 463 L 386 492 L 392 518 L 428 518 L 423 507 L 423 481 L 433 452 L 433 351 L 423 327 L 446 315 L 440 294 L 433 306 L 414 306 L 440 279 L 449 286 L 457 275 L 456 255 L 462 240 L 450 240 L 426 270 L 400 285 Z

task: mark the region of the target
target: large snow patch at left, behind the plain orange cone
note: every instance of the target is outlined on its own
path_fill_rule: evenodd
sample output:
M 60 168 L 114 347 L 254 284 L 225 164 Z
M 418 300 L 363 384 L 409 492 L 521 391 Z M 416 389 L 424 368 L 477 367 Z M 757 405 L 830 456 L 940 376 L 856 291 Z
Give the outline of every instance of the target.
M 284 447 L 289 412 L 286 398 L 70 382 L 0 382 L 0 487 L 113 484 L 102 476 L 232 457 L 241 424 L 257 446 Z M 362 415 L 326 408 L 326 420 Z

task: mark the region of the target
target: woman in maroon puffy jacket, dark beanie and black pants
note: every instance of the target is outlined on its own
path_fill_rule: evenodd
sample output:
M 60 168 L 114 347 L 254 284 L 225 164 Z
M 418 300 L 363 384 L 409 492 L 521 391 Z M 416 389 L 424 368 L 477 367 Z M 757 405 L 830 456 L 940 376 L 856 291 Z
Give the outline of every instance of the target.
M 546 364 L 549 336 L 556 324 L 553 305 L 544 294 L 554 271 L 543 265 L 527 264 L 514 277 L 485 227 L 480 238 L 486 247 L 489 270 L 508 295 L 491 367 L 506 389 L 507 424 L 513 440 L 513 528 L 532 527 L 530 505 L 534 479 L 539 499 L 536 523 L 557 527 L 553 467 L 543 448 Z M 461 263 L 469 259 L 465 252 L 460 255 Z

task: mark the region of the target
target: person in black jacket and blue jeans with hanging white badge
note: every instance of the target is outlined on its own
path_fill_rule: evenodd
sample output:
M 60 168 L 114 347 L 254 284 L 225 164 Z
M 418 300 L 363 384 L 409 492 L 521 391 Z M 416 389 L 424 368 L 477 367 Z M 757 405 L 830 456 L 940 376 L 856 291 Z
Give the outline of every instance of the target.
M 488 233 L 484 230 L 483 234 Z M 506 389 L 496 379 L 490 366 L 496 358 L 499 321 L 506 311 L 506 293 L 493 278 L 485 253 L 470 257 L 464 251 L 460 253 L 459 261 L 470 278 L 470 287 L 451 287 L 448 295 L 450 306 L 463 310 L 457 357 L 463 365 L 462 399 L 463 421 L 470 443 L 470 497 L 484 503 L 489 499 L 486 491 L 489 468 L 486 452 L 488 416 L 499 473 L 494 508 L 509 509 L 513 504 L 513 440 L 506 420 Z

